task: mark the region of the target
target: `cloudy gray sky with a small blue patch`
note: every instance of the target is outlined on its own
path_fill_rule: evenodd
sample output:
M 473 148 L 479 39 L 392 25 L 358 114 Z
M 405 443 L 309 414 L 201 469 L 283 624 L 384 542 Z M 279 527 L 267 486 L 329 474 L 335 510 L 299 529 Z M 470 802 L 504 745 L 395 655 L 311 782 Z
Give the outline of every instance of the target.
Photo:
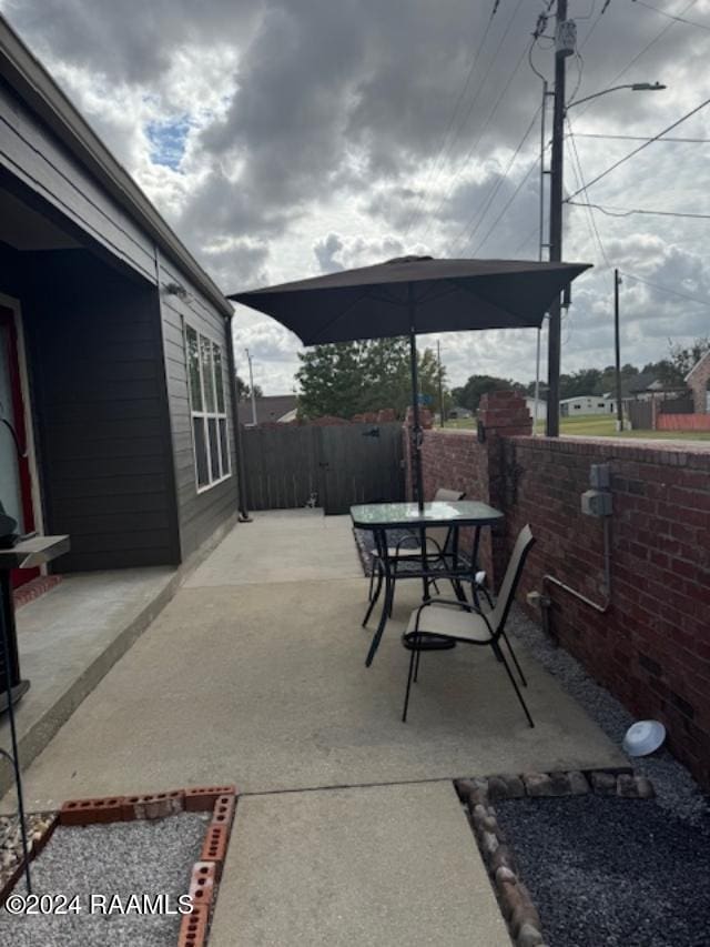
M 581 58 L 568 60 L 568 98 L 630 82 L 668 89 L 570 109 L 568 193 L 577 158 L 592 181 L 642 143 L 587 135 L 650 138 L 710 94 L 710 0 L 610 0 L 601 14 L 605 3 L 569 0 Z M 413 252 L 537 259 L 541 82 L 527 51 L 547 6 L 0 0 L 225 293 Z M 545 38 L 531 54 L 548 79 L 552 56 Z M 710 139 L 710 108 L 669 134 Z M 615 213 L 710 214 L 709 184 L 710 144 L 653 143 L 588 200 Z M 669 336 L 710 334 L 710 220 L 592 213 L 566 218 L 565 259 L 595 270 L 575 284 L 562 371 L 613 361 L 613 266 L 647 281 L 621 288 L 623 361 L 663 357 Z M 295 336 L 243 308 L 235 322 L 255 381 L 291 391 Z M 535 342 L 534 331 L 442 335 L 443 360 L 453 384 L 484 372 L 529 381 Z

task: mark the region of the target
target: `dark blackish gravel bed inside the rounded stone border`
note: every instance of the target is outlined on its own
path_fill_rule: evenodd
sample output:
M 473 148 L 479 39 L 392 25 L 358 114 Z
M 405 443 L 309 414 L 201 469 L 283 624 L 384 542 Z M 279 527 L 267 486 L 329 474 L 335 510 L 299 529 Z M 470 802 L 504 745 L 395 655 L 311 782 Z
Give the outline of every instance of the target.
M 498 800 L 549 947 L 704 947 L 710 819 L 606 796 Z

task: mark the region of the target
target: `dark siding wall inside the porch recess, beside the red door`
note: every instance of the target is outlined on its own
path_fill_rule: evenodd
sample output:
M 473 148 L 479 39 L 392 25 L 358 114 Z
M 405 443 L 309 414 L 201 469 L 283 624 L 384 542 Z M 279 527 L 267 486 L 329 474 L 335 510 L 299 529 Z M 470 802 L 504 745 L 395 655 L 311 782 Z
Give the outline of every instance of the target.
M 22 254 L 48 532 L 62 572 L 180 561 L 160 303 L 82 250 Z

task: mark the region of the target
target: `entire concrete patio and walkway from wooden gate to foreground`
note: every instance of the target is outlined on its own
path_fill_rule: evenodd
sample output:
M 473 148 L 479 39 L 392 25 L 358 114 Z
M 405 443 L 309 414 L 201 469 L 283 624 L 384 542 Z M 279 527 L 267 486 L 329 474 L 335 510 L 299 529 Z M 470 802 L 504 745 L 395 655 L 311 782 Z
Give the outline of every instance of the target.
M 507 944 L 457 776 L 625 758 L 540 667 L 530 729 L 484 649 L 426 655 L 406 725 L 404 583 L 373 667 L 347 517 L 256 514 L 26 776 L 29 808 L 235 782 L 217 945 Z

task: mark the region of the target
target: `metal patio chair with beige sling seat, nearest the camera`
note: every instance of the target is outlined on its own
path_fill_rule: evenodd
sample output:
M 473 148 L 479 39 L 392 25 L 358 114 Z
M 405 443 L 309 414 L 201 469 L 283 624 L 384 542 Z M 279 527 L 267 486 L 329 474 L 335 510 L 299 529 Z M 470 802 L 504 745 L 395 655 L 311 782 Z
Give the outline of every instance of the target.
M 409 692 L 412 682 L 417 679 L 419 673 L 419 658 L 422 648 L 418 647 L 423 635 L 436 635 L 439 638 L 448 638 L 452 642 L 462 642 L 463 644 L 488 645 L 493 648 L 494 654 L 506 669 L 506 674 L 510 678 L 510 683 L 515 689 L 516 696 L 520 702 L 520 706 L 525 711 L 525 715 L 531 727 L 535 726 L 532 717 L 527 708 L 523 694 L 517 685 L 517 682 L 510 671 L 510 666 L 500 647 L 500 639 L 505 642 L 510 653 L 510 657 L 520 676 L 520 683 L 527 687 L 527 681 L 520 669 L 515 652 L 510 646 L 508 636 L 505 632 L 506 621 L 510 606 L 515 598 L 516 588 L 523 574 L 523 566 L 527 558 L 535 537 L 529 525 L 526 525 L 520 531 L 516 540 L 513 555 L 508 562 L 500 593 L 494 608 L 490 612 L 484 613 L 476 608 L 475 605 L 469 605 L 460 601 L 448 601 L 432 598 L 425 602 L 412 613 L 409 624 L 407 626 L 406 637 L 412 642 L 412 654 L 409 657 L 409 674 L 407 677 L 407 691 L 404 699 L 404 711 L 402 713 L 403 722 L 407 719 L 407 709 L 409 706 Z

